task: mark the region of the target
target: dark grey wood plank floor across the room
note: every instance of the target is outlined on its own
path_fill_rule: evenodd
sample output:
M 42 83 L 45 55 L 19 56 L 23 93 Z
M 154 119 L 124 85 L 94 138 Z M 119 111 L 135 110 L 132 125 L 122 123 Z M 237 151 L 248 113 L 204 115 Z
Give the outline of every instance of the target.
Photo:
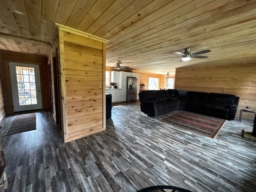
M 252 122 L 227 121 L 216 139 L 140 112 L 139 102 L 115 104 L 106 131 L 63 143 L 49 112 L 37 112 L 37 129 L 4 136 L 14 116 L 0 126 L 11 191 L 135 192 L 172 185 L 198 192 L 256 189 L 256 142 L 243 138 Z

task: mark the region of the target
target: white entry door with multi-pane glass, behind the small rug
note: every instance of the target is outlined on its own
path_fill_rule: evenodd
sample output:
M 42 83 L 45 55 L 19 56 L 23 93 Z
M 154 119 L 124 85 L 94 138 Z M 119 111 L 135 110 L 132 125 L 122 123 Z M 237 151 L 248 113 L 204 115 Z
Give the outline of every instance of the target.
M 14 112 L 42 109 L 39 66 L 9 62 Z

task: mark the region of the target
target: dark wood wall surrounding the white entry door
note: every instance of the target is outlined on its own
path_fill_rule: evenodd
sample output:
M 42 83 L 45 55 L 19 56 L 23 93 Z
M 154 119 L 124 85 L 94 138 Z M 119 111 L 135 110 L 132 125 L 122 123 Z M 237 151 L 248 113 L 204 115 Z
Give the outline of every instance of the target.
M 12 89 L 10 82 L 9 62 L 20 62 L 27 64 L 37 64 L 40 69 L 40 82 L 42 93 L 42 108 L 50 108 L 50 93 L 49 93 L 49 78 L 48 78 L 48 62 L 46 57 L 34 56 L 28 54 L 18 54 L 14 52 L 0 52 L 2 70 L 2 87 L 4 91 L 4 100 L 6 114 L 12 114 L 14 112 L 12 102 Z

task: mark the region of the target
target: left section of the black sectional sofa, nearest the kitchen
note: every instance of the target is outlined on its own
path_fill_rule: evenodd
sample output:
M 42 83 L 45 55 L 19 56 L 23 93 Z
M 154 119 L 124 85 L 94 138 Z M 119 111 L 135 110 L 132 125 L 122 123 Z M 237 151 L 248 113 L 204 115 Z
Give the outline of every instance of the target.
M 140 110 L 148 116 L 158 116 L 179 109 L 177 90 L 147 90 L 139 93 Z

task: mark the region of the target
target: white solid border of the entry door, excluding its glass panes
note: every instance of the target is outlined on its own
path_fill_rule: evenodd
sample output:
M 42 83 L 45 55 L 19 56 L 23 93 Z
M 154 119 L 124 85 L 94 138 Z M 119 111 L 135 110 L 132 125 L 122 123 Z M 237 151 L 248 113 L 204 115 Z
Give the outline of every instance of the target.
M 9 64 L 9 69 L 10 69 L 11 85 L 13 85 L 11 90 L 12 90 L 12 103 L 13 103 L 14 112 L 42 109 L 40 66 L 36 65 L 36 64 L 28 64 L 28 63 L 20 63 L 20 62 L 9 62 L 8 64 Z M 37 74 L 37 76 L 36 76 L 36 95 L 37 95 L 37 97 L 36 98 L 37 98 L 38 104 L 20 106 L 20 104 L 18 102 L 19 96 L 18 96 L 18 86 L 17 86 L 17 77 L 16 77 L 15 66 L 33 67 L 35 69 L 35 74 Z M 13 81 L 15 81 L 16 83 L 14 83 Z

